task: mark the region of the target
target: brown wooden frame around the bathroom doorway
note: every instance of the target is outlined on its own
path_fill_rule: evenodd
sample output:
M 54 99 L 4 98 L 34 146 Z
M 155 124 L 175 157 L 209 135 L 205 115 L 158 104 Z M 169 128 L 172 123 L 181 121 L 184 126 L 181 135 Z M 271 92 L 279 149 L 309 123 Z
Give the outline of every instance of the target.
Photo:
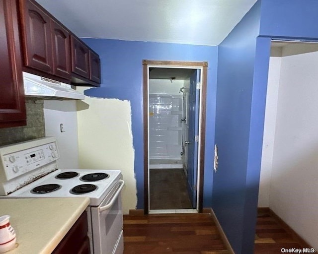
M 206 125 L 206 89 L 207 89 L 207 71 L 208 62 L 178 62 L 178 61 L 153 61 L 143 60 L 143 112 L 144 112 L 144 213 L 149 213 L 149 133 L 148 133 L 148 80 L 149 80 L 149 65 L 175 68 L 201 68 L 202 80 L 200 92 L 200 129 L 199 129 L 199 149 L 200 155 L 198 158 L 198 173 L 199 173 L 199 196 L 198 196 L 198 212 L 203 210 L 203 180 L 204 180 L 204 152 L 205 152 L 205 125 Z

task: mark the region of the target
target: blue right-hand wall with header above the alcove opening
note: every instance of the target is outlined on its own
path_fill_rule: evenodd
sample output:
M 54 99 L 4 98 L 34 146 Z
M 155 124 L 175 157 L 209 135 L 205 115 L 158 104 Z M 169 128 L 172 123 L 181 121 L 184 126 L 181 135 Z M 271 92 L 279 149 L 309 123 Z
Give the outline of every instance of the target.
M 271 38 L 318 41 L 317 0 L 259 0 L 219 46 L 213 209 L 252 254 Z

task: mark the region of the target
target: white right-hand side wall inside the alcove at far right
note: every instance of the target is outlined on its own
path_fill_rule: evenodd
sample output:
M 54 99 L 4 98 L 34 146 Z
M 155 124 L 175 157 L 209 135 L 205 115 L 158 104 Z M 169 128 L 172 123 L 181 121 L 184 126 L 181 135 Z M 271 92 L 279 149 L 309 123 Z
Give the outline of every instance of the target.
M 318 52 L 281 58 L 268 196 L 269 207 L 314 248 L 318 248 L 317 69 Z M 263 161 L 270 165 L 267 156 Z

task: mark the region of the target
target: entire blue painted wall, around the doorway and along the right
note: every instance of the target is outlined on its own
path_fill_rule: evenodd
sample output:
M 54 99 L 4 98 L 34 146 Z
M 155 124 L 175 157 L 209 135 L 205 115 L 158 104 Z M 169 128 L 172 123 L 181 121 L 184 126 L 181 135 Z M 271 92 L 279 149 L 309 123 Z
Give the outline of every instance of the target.
M 270 40 L 318 41 L 317 10 L 317 0 L 259 0 L 219 47 L 83 39 L 102 64 L 101 87 L 86 94 L 132 105 L 138 208 L 144 205 L 141 62 L 208 61 L 204 206 L 212 200 L 237 254 L 253 253 Z

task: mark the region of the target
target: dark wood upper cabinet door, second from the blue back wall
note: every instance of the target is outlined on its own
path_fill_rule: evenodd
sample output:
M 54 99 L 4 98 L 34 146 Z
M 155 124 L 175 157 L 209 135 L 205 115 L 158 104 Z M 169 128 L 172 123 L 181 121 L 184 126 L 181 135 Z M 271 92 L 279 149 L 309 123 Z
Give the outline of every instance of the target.
M 72 71 L 89 79 L 89 50 L 78 38 L 71 35 Z

